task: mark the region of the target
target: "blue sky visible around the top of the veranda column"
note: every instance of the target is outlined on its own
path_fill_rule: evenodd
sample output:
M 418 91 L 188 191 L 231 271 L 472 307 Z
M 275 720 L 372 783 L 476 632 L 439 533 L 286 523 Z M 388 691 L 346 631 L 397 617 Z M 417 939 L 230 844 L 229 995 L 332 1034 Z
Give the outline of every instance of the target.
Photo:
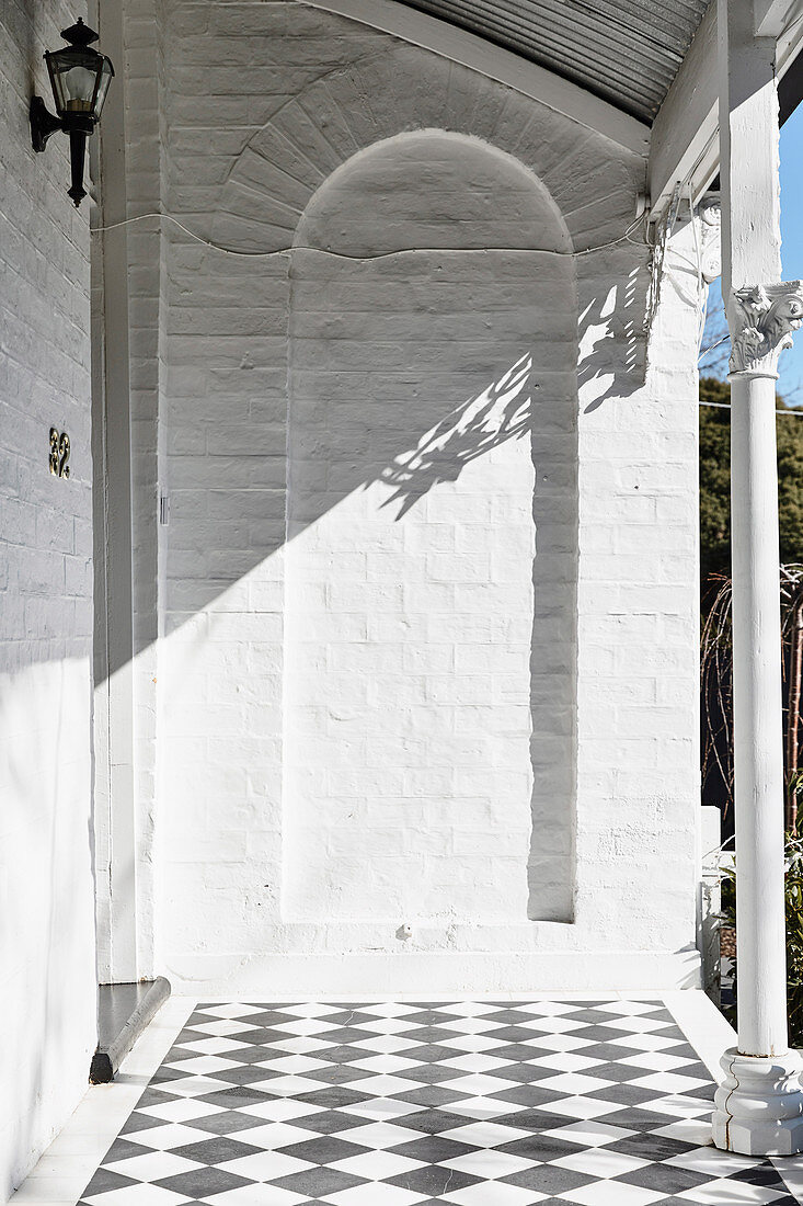
M 784 280 L 803 280 L 803 105 L 781 129 L 781 236 Z M 719 299 L 719 282 L 710 291 L 709 306 Z M 795 347 L 783 352 L 778 365 L 778 392 L 793 405 L 803 405 L 803 330 L 795 336 Z M 705 364 L 701 367 L 705 373 Z

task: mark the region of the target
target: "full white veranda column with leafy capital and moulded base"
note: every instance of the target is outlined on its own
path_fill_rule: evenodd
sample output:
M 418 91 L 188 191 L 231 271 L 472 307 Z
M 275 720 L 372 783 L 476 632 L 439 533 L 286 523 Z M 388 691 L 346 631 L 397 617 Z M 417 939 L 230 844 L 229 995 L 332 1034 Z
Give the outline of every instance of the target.
M 789 1050 L 775 381 L 803 285 L 780 282 L 775 43 L 751 0 L 719 0 L 722 295 L 731 357 L 738 1048 L 722 1058 L 714 1142 L 803 1148 L 801 1058 Z

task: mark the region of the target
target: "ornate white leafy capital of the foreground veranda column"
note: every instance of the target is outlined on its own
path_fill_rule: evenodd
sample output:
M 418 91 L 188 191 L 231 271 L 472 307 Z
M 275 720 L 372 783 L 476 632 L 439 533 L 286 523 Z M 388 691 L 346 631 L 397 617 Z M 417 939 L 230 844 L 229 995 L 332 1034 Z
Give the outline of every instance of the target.
M 778 375 L 778 357 L 803 323 L 803 281 L 731 291 L 731 373 Z

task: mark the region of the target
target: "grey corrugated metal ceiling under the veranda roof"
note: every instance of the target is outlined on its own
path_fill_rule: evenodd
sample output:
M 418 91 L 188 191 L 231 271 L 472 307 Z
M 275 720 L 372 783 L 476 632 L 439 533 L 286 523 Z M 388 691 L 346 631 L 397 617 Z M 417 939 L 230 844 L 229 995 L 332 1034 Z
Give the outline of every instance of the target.
M 403 0 L 651 122 L 708 0 Z

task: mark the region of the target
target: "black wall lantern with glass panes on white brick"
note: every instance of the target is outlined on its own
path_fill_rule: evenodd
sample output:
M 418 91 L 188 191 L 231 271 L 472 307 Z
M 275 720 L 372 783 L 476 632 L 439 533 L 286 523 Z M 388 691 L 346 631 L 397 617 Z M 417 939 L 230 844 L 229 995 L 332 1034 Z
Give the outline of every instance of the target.
M 58 116 L 48 112 L 41 96 L 33 96 L 30 133 L 34 151 L 43 151 L 51 134 L 57 130 L 70 135 L 71 185 L 68 195 L 77 209 L 87 195 L 83 187 L 87 136 L 100 118 L 115 69 L 111 59 L 93 51 L 92 42 L 98 41 L 98 34 L 80 17 L 75 25 L 61 30 L 61 37 L 70 45 L 45 54 Z

